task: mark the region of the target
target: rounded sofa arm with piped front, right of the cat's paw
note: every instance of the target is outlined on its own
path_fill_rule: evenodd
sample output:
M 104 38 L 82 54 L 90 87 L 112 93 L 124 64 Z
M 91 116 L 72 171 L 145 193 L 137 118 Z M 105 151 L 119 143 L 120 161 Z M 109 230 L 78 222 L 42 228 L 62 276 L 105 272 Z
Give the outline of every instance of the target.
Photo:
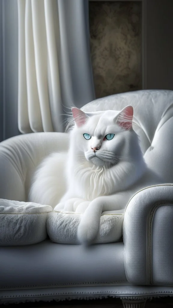
M 144 188 L 129 201 L 123 221 L 127 280 L 173 284 L 173 184 Z

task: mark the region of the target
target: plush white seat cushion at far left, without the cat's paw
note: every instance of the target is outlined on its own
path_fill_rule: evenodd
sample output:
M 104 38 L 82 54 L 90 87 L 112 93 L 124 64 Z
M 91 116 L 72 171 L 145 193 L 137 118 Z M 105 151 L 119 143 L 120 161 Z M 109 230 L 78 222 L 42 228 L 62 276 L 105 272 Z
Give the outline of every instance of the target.
M 0 245 L 30 245 L 47 237 L 49 205 L 0 199 Z

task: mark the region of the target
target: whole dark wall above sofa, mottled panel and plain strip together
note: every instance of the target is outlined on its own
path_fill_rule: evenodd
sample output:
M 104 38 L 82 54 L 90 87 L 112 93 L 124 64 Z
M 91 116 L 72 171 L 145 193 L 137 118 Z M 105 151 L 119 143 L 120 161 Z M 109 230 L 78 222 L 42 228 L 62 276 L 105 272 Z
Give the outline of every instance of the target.
M 121 8 L 119 3 L 99 0 L 90 1 L 89 4 L 91 56 L 96 96 L 137 90 L 141 87 L 173 90 L 173 1 L 122 1 Z M 114 9 L 110 9 L 110 6 Z M 133 7 L 136 6 L 139 8 L 134 18 Z M 121 14 L 120 23 L 117 17 L 118 10 Z M 133 19 L 138 19 L 135 32 L 133 26 L 136 25 L 133 24 Z M 123 38 L 121 41 L 120 37 Z M 134 42 L 132 49 L 130 41 Z M 128 60 L 128 54 L 132 60 Z M 140 54 L 142 54 L 142 70 L 139 66 Z

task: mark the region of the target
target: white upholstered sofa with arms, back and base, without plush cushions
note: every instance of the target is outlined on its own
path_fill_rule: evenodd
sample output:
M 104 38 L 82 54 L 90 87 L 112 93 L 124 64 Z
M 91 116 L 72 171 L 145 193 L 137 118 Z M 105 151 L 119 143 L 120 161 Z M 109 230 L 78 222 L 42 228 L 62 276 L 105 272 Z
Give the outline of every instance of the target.
M 47 238 L 1 246 L 1 304 L 111 296 L 122 298 L 124 307 L 139 308 L 147 298 L 173 295 L 173 91 L 111 95 L 82 110 L 121 110 L 129 104 L 145 160 L 166 184 L 144 188 L 131 199 L 123 241 L 83 247 Z M 1 142 L 0 198 L 27 201 L 35 168 L 50 152 L 66 151 L 68 142 L 68 134 L 55 132 Z

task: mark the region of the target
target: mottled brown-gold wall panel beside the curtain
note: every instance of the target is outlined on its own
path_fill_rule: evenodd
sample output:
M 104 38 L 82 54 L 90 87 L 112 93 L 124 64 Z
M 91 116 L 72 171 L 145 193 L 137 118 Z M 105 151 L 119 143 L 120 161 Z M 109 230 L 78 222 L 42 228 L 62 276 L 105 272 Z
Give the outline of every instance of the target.
M 142 88 L 141 2 L 89 1 L 96 98 Z

